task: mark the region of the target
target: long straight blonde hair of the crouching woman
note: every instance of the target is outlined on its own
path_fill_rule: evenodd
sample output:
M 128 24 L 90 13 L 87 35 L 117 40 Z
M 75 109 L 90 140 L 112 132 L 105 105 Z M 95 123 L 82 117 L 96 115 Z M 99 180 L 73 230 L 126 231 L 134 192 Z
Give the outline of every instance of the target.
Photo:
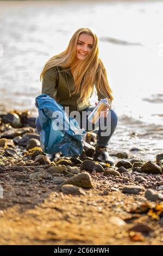
M 79 28 L 72 35 L 66 50 L 53 56 L 46 62 L 41 72 L 40 80 L 42 80 L 43 75 L 48 69 L 54 66 L 68 68 L 74 63 L 74 60 L 76 59 L 76 48 L 80 34 L 92 35 L 94 44 L 89 54 L 87 54 L 83 60 L 79 60 L 79 62 L 73 66 L 73 68 L 75 67 L 73 72 L 75 90 L 72 95 L 80 93 L 78 102 L 83 101 L 84 103 L 87 103 L 93 92 L 94 84 L 96 84 L 96 88 L 102 95 L 106 96 L 108 99 L 113 100 L 112 90 L 109 86 L 106 69 L 101 59 L 98 58 L 97 35 L 93 33 L 89 28 Z

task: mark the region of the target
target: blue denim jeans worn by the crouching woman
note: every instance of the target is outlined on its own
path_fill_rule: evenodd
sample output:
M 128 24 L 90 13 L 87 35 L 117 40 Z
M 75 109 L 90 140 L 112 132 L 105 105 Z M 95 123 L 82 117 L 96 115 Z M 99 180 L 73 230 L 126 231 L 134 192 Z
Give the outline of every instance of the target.
M 89 106 L 86 109 L 84 109 L 84 111 L 86 112 L 92 112 L 93 109 L 95 108 L 95 106 Z M 71 114 L 71 113 L 70 113 Z M 97 122 L 96 125 L 92 125 L 92 129 L 89 129 L 89 121 L 87 120 L 86 117 L 86 121 L 84 122 L 83 125 L 83 120 L 82 120 L 82 112 L 80 112 L 80 122 L 78 121 L 80 128 L 82 128 L 83 126 L 84 129 L 88 132 L 88 131 L 93 131 L 97 134 L 97 146 L 98 147 L 108 147 L 109 141 L 111 136 L 113 135 L 116 127 L 117 127 L 117 122 L 118 122 L 118 118 L 117 118 L 117 114 L 115 113 L 114 110 L 110 110 L 108 117 L 109 118 L 99 118 L 99 122 Z M 106 128 L 105 128 L 106 127 Z M 109 133 L 105 133 L 105 131 L 107 130 L 107 127 L 109 127 Z M 41 125 L 40 125 L 40 121 L 39 121 L 39 117 L 36 118 L 36 130 L 38 132 L 41 131 Z

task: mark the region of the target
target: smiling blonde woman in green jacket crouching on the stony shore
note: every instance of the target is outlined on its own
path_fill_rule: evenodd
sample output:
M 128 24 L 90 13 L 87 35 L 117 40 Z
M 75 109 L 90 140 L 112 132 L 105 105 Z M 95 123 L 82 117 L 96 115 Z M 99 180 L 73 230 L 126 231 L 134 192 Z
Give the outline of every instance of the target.
M 113 100 L 105 67 L 98 57 L 98 38 L 89 28 L 79 28 L 70 39 L 66 50 L 47 61 L 40 80 L 42 80 L 42 93 L 53 97 L 60 105 L 69 107 L 70 113 L 72 111 L 90 113 L 95 108 L 90 104 L 94 85 L 98 100 L 104 98 Z M 110 123 L 106 124 L 108 114 L 110 114 Z M 101 129 L 101 120 L 102 118 L 99 119 L 99 126 L 95 131 L 97 147 L 93 158 L 112 165 L 114 160 L 109 156 L 107 146 L 117 126 L 117 115 L 112 109 L 109 111 L 109 107 L 105 109 L 103 125 L 110 126 L 108 136 L 102 135 L 104 130 Z M 79 125 L 82 128 L 82 121 Z M 39 130 L 38 118 L 36 126 Z M 92 130 L 95 130 L 95 127 Z

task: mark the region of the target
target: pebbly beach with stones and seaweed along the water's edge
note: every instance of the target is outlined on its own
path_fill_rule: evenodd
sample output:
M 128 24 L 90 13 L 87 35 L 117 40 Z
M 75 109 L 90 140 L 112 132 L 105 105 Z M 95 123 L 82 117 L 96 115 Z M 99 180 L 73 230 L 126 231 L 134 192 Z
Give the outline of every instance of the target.
M 96 134 L 81 156 L 44 154 L 29 111 L 0 115 L 1 245 L 161 245 L 163 152 L 136 148 L 95 162 Z

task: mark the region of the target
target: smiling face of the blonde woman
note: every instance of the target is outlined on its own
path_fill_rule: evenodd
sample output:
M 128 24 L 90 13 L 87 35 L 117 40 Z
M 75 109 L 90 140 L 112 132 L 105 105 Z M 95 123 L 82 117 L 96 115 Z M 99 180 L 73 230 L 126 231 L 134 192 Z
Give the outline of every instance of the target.
M 80 34 L 76 50 L 76 59 L 82 60 L 91 51 L 93 47 L 93 36 L 87 34 Z

